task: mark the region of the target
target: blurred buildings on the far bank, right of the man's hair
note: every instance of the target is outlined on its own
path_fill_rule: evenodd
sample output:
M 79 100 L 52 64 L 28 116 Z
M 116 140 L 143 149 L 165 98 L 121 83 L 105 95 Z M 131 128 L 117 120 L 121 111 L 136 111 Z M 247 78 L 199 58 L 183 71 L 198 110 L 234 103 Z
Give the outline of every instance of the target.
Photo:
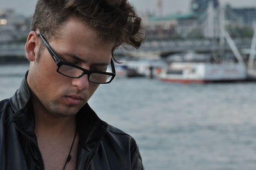
M 144 26 L 149 39 L 218 38 L 221 19 L 225 25 L 243 29 L 256 20 L 255 8 L 221 6 L 218 0 L 191 0 L 191 12 L 166 16 L 145 17 Z M 222 12 L 223 11 L 223 12 Z

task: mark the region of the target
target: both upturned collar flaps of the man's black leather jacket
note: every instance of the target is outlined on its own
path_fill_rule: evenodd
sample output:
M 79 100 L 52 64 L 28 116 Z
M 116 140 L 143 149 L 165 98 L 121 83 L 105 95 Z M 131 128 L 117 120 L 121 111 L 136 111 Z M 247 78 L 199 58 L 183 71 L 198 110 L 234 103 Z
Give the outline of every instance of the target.
M 19 130 L 28 135 L 31 140 L 36 142 L 35 118 L 31 102 L 31 90 L 26 81 L 28 72 L 20 84 L 20 88 L 15 95 L 9 99 L 14 111 L 12 121 Z M 77 129 L 80 136 L 79 143 L 86 151 L 92 151 L 95 144 L 99 143 L 105 134 L 108 124 L 99 119 L 97 114 L 85 104 L 76 115 Z

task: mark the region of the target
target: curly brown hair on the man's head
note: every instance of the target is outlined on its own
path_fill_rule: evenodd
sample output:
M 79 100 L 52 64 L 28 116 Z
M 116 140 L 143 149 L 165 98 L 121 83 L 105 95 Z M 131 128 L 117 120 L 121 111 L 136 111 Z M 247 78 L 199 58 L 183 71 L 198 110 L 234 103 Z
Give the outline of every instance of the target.
M 103 41 L 114 42 L 112 54 L 120 45 L 140 47 L 145 37 L 141 18 L 127 0 L 38 0 L 31 30 L 50 40 L 69 17 L 86 21 Z

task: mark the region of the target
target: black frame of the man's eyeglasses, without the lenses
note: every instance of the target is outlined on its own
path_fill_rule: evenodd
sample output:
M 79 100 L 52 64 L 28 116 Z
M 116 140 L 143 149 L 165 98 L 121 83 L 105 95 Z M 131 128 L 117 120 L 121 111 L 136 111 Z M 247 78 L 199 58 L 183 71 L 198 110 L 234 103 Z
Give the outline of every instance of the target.
M 93 83 L 96 83 L 96 84 L 108 84 L 110 83 L 111 81 L 113 81 L 113 79 L 115 78 L 115 75 L 116 75 L 116 71 L 115 71 L 115 65 L 114 65 L 114 62 L 113 62 L 113 59 L 111 58 L 111 61 L 110 61 L 110 65 L 111 65 L 111 70 L 112 70 L 112 73 L 110 72 L 100 72 L 100 71 L 95 71 L 95 70 L 86 70 L 85 68 L 82 68 L 80 66 L 76 66 L 76 65 L 73 65 L 72 63 L 68 63 L 68 62 L 65 62 L 65 61 L 61 61 L 60 58 L 58 58 L 58 56 L 55 54 L 54 50 L 52 49 L 52 47 L 49 45 L 49 43 L 47 42 L 47 40 L 44 38 L 44 36 L 41 34 L 41 33 L 38 33 L 37 36 L 39 36 L 41 39 L 42 39 L 42 42 L 44 42 L 44 45 L 46 47 L 46 49 L 48 50 L 48 52 L 51 54 L 52 56 L 52 59 L 54 60 L 54 62 L 56 63 L 56 65 L 58 66 L 57 68 L 57 72 L 60 73 L 61 75 L 64 75 L 65 77 L 70 77 L 70 78 L 80 78 L 82 77 L 84 74 L 88 75 L 88 81 L 90 81 L 90 75 L 92 73 L 101 73 L 101 74 L 104 74 L 104 75 L 111 75 L 111 79 L 108 81 L 108 82 L 93 82 L 93 81 L 90 81 L 90 82 L 93 82 Z M 71 76 L 68 76 L 68 75 L 65 75 L 63 73 L 61 73 L 59 70 L 60 70 L 60 67 L 61 65 L 68 65 L 68 66 L 72 66 L 74 68 L 78 68 L 79 70 L 82 70 L 83 73 L 81 73 L 81 75 L 79 75 L 78 77 L 71 77 Z

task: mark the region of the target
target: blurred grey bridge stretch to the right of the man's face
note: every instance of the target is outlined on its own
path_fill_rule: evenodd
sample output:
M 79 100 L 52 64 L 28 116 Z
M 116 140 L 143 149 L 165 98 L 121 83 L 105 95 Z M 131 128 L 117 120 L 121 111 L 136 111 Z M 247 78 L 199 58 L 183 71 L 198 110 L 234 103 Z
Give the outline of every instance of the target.
M 234 43 L 241 51 L 247 51 L 244 49 L 250 49 L 252 39 L 235 39 Z M 227 43 L 222 50 L 231 50 Z M 209 53 L 220 50 L 218 40 L 202 39 L 202 40 L 148 40 L 144 42 L 140 49 L 118 49 L 118 54 L 127 54 L 139 58 L 159 58 L 159 56 L 168 56 L 169 54 L 175 54 L 180 52 L 186 52 L 193 50 L 195 52 Z

